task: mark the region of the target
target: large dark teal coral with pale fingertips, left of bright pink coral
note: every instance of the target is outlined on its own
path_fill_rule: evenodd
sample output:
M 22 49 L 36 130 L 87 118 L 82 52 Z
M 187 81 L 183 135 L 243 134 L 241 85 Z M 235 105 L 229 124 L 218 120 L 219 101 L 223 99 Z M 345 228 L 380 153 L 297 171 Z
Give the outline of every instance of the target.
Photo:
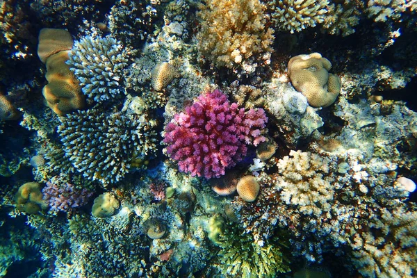
M 156 149 L 155 122 L 146 115 L 105 114 L 97 109 L 61 118 L 58 133 L 65 156 L 84 177 L 115 183 L 129 172 L 134 159 L 152 156 Z

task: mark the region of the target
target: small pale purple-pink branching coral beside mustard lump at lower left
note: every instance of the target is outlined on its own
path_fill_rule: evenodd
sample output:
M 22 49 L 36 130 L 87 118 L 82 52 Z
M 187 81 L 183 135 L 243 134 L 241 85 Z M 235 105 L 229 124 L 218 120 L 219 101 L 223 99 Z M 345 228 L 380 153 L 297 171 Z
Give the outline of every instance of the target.
M 79 206 L 87 204 L 92 192 L 87 188 L 76 188 L 60 176 L 53 177 L 42 189 L 44 200 L 53 214 L 59 211 L 72 211 Z

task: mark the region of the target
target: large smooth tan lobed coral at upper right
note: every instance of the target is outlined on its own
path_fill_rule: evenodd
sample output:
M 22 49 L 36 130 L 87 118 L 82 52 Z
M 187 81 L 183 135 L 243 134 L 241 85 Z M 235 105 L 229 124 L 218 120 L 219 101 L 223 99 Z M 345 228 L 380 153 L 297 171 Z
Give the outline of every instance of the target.
M 332 105 L 341 92 L 341 79 L 329 74 L 331 67 L 332 63 L 317 52 L 295 56 L 288 62 L 291 83 L 307 98 L 310 106 Z

